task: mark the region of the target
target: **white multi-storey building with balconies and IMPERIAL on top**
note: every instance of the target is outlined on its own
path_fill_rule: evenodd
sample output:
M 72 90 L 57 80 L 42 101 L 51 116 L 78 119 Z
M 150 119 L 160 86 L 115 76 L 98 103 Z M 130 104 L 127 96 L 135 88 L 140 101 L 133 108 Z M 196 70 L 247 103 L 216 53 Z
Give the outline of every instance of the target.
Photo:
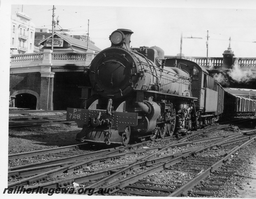
M 34 53 L 35 25 L 22 12 L 11 16 L 10 54 Z

